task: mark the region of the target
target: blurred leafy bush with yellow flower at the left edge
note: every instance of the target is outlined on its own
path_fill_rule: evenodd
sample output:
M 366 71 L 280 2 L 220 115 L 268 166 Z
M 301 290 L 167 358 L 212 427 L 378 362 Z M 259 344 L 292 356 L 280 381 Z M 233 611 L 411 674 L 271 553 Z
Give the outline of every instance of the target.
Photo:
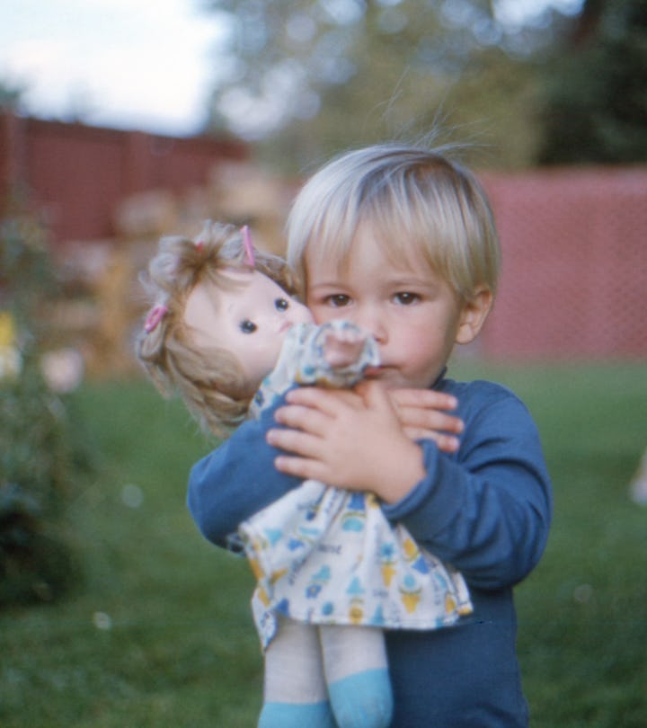
M 36 312 L 53 290 L 40 228 L 0 226 L 0 607 L 56 599 L 74 582 L 64 504 L 82 465 L 66 405 L 40 371 Z M 32 322 L 34 322 L 32 324 Z M 80 441 L 80 440 L 79 440 Z

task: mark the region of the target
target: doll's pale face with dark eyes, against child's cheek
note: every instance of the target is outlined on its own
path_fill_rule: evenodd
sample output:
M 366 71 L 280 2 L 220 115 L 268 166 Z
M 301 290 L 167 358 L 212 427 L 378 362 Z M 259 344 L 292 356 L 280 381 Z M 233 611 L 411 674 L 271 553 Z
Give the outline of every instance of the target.
M 313 318 L 306 306 L 259 271 L 232 270 L 227 277 L 234 283 L 231 289 L 205 281 L 191 291 L 184 324 L 194 345 L 235 355 L 251 394 L 274 368 L 288 329 Z

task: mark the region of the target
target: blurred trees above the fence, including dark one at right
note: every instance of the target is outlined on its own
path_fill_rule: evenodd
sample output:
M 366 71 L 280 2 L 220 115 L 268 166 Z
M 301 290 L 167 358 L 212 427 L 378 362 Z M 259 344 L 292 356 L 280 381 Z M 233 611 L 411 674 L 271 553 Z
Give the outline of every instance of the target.
M 471 146 L 473 166 L 647 160 L 644 0 L 586 0 L 520 25 L 503 5 L 209 0 L 231 28 L 212 125 L 299 173 L 434 130 Z

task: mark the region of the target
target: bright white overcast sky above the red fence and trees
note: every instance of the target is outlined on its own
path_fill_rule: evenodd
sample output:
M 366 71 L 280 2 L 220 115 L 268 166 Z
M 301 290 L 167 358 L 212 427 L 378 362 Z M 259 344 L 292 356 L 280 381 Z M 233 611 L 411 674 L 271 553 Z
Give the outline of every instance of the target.
M 500 0 L 509 22 L 582 0 Z M 190 136 L 224 62 L 225 18 L 200 0 L 0 0 L 0 81 L 31 115 Z M 219 51 L 220 49 L 220 51 Z

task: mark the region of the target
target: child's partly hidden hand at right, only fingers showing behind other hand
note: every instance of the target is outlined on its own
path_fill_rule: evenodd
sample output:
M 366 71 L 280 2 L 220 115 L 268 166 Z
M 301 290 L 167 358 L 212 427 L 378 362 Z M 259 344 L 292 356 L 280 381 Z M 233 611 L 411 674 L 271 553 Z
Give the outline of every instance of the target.
M 448 414 L 456 409 L 456 397 L 433 389 L 392 389 L 391 402 L 400 424 L 411 439 L 432 439 L 443 452 L 456 452 L 463 421 Z

